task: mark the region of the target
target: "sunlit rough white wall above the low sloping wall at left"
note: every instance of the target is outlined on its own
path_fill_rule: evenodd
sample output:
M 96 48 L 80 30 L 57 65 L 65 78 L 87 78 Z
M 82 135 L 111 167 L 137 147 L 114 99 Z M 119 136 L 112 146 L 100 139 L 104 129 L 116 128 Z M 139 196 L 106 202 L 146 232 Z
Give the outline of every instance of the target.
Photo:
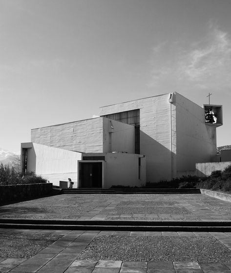
M 79 152 L 103 152 L 103 118 L 32 129 L 31 142 Z

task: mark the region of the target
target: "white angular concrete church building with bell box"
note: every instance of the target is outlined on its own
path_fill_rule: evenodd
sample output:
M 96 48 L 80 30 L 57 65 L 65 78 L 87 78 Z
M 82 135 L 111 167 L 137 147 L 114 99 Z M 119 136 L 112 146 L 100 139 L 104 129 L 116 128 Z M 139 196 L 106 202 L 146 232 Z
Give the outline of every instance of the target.
M 66 174 L 77 187 L 109 188 L 170 180 L 194 171 L 198 162 L 215 160 L 221 105 L 202 108 L 173 92 L 104 106 L 100 116 L 32 129 L 32 143 L 22 144 L 22 170 L 54 184 Z M 31 146 L 36 158 L 43 151 L 48 169 L 33 158 Z M 54 162 L 56 152 L 64 160 L 62 168 Z

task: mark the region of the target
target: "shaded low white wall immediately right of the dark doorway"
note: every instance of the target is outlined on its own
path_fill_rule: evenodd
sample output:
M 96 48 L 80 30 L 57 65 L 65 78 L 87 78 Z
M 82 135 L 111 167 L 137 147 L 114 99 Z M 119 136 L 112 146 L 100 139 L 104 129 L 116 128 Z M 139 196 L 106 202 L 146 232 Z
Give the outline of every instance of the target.
M 141 160 L 139 179 L 139 156 L 129 153 L 106 153 L 105 188 L 112 185 L 141 186 L 146 183 L 145 158 Z

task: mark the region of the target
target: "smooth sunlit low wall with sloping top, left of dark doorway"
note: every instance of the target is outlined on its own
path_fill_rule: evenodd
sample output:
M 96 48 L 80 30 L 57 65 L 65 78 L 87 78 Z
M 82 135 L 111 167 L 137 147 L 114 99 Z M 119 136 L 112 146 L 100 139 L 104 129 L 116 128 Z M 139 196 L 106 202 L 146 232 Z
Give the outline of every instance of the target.
M 60 180 L 71 178 L 77 187 L 77 161 L 82 159 L 82 153 L 37 143 L 22 143 L 21 148 L 27 148 L 27 171 L 41 175 L 56 186 Z

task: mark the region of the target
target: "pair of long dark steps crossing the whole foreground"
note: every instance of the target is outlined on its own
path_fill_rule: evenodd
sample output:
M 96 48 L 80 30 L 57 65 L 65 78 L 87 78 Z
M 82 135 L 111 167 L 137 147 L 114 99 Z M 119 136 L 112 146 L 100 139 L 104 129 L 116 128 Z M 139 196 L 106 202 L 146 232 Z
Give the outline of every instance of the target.
M 123 221 L 0 219 L 0 228 L 231 232 L 231 221 Z

